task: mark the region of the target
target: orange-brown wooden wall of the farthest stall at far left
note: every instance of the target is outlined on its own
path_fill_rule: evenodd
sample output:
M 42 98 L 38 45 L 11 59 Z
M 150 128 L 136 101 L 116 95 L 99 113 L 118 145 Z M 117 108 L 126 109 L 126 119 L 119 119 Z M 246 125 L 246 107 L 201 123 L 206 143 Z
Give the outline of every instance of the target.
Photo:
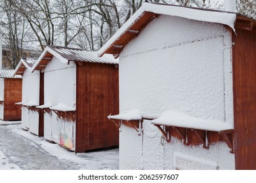
M 15 105 L 22 101 L 22 79 L 5 78 L 3 120 L 21 120 L 21 108 Z

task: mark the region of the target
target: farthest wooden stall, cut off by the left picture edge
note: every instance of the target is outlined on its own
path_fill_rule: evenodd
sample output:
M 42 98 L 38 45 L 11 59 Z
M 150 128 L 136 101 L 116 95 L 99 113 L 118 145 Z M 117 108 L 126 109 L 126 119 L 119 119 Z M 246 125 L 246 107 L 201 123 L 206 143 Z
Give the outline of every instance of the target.
M 15 103 L 22 97 L 22 76 L 13 76 L 14 70 L 0 70 L 0 119 L 21 119 L 20 107 Z

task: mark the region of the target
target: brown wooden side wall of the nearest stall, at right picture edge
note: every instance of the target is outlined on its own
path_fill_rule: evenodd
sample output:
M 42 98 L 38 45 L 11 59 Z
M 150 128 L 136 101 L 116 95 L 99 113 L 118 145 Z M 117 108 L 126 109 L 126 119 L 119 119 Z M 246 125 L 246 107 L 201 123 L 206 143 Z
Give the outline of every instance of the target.
M 256 28 L 232 33 L 236 169 L 256 169 Z

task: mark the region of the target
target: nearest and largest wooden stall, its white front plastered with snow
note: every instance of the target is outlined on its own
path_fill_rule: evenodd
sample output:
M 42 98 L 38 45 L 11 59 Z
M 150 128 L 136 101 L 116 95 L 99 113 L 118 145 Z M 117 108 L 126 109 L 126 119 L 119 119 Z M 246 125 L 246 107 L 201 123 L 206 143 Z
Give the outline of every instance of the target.
M 256 169 L 255 27 L 144 3 L 102 46 L 119 57 L 120 169 Z

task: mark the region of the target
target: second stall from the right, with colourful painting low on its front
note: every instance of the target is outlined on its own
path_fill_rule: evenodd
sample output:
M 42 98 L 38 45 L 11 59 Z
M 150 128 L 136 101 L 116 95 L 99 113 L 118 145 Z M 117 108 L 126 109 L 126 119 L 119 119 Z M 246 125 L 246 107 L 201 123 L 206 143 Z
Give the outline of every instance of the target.
M 118 145 L 118 129 L 106 118 L 118 111 L 116 59 L 47 46 L 32 70 L 44 73 L 44 103 L 37 108 L 45 113 L 47 140 L 75 152 Z

